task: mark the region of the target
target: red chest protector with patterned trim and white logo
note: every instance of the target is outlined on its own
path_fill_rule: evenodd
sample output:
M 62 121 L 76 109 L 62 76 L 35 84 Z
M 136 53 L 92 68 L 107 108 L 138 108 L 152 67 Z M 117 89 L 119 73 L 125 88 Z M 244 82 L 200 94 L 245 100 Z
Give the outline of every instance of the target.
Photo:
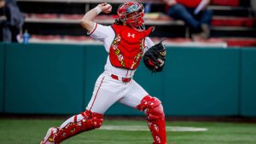
M 138 32 L 128 26 L 112 25 L 115 37 L 109 49 L 109 59 L 113 66 L 135 70 L 140 63 L 145 48 L 145 37 L 153 27 Z

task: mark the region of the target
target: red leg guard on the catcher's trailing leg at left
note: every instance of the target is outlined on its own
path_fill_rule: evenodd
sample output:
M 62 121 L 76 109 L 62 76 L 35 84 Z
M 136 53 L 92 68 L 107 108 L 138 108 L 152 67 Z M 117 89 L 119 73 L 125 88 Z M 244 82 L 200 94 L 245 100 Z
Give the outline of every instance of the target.
M 61 141 L 66 140 L 67 138 L 78 135 L 83 131 L 94 130 L 101 127 L 103 122 L 103 115 L 96 112 L 85 111 L 82 112 L 82 119 L 77 120 L 77 116 L 74 116 L 73 122 L 67 124 L 64 128 L 59 130 L 55 136 L 55 143 L 61 143 Z

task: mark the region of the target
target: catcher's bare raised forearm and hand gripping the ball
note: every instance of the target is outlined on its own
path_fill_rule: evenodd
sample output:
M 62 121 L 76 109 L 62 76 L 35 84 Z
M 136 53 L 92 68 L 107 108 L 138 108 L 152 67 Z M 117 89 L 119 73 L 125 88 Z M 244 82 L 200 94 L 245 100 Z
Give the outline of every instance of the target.
M 86 14 L 84 14 L 83 19 L 81 20 L 81 25 L 84 27 L 87 32 L 91 32 L 94 29 L 96 16 L 103 13 L 110 13 L 112 6 L 108 3 L 101 3 L 96 6 L 94 9 L 90 9 Z

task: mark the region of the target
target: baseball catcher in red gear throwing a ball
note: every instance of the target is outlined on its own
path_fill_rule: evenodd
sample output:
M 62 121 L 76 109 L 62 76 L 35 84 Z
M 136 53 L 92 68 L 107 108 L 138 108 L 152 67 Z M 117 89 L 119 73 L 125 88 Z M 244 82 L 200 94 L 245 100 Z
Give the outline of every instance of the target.
M 94 21 L 98 14 L 109 14 L 111 9 L 108 3 L 98 4 L 84 14 L 81 20 L 88 35 L 101 41 L 108 52 L 104 71 L 96 80 L 89 104 L 84 112 L 68 118 L 60 127 L 49 128 L 41 144 L 60 144 L 69 137 L 100 128 L 104 113 L 117 102 L 145 113 L 153 144 L 167 143 L 166 118 L 161 101 L 149 95 L 133 79 L 143 59 L 152 72 L 162 71 L 166 49 L 162 43 L 154 45 L 148 37 L 153 27 L 146 29 L 144 26 L 143 4 L 121 4 L 111 26 L 103 26 Z M 150 49 L 146 51 L 146 48 Z

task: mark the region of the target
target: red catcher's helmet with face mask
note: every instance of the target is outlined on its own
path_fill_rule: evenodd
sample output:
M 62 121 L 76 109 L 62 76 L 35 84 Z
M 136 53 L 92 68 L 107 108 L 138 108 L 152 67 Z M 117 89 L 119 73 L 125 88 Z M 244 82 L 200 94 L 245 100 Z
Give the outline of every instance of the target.
M 145 30 L 143 4 L 137 2 L 121 4 L 117 13 L 119 20 L 125 22 L 127 25 L 135 29 Z

